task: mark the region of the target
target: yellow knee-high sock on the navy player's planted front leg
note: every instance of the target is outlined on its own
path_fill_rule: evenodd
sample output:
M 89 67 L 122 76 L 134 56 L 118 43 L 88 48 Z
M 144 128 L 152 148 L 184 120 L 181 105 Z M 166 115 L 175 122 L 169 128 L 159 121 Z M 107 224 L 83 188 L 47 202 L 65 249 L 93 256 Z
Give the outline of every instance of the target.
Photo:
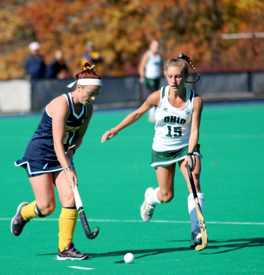
M 68 249 L 68 243 L 73 242 L 73 232 L 78 218 L 77 209 L 61 208 L 59 218 L 59 249 Z

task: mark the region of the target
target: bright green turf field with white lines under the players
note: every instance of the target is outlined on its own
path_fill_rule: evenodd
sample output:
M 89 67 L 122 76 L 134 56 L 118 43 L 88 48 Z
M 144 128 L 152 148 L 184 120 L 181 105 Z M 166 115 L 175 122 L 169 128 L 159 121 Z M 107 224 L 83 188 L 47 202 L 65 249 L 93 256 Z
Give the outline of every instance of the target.
M 104 144 L 101 136 L 129 111 L 95 112 L 75 154 L 79 191 L 95 240 L 77 222 L 74 244 L 90 254 L 84 261 L 57 261 L 61 204 L 32 220 L 19 237 L 10 232 L 18 204 L 34 200 L 21 158 L 40 116 L 0 118 L 2 203 L 1 274 L 264 274 L 264 105 L 205 106 L 200 128 L 204 218 L 209 243 L 189 248 L 188 190 L 177 168 L 175 197 L 140 217 L 147 187 L 157 187 L 151 168 L 154 124 L 147 116 Z M 127 252 L 135 255 L 125 264 Z M 75 268 L 74 268 L 75 267 Z M 84 269 L 80 269 L 84 268 Z

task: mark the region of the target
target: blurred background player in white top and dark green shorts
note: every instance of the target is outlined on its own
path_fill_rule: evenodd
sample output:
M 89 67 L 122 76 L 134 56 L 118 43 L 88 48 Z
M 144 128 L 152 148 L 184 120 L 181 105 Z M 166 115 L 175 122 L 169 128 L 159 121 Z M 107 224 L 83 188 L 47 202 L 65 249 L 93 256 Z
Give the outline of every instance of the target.
M 159 83 L 162 71 L 162 57 L 158 53 L 159 42 L 157 40 L 152 40 L 149 45 L 149 50 L 147 50 L 140 60 L 139 64 L 139 81 L 144 84 L 148 90 L 149 94 L 159 90 Z M 143 98 L 145 101 L 146 98 Z M 151 108 L 148 112 L 149 121 L 155 121 L 155 107 Z

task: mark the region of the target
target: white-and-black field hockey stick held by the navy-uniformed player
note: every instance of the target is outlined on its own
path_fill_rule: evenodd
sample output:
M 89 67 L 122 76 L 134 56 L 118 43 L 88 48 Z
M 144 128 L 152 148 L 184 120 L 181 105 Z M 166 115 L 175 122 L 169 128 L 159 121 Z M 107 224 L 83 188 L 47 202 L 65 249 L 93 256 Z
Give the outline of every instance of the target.
M 69 166 L 72 168 L 69 157 L 67 157 L 67 160 L 68 160 Z M 91 232 L 90 227 L 89 227 L 88 222 L 87 222 L 87 218 L 86 218 L 85 213 L 84 213 L 83 203 L 82 203 L 81 198 L 80 198 L 80 194 L 79 194 L 79 191 L 78 191 L 78 186 L 75 182 L 74 182 L 74 186 L 72 186 L 72 189 L 73 189 L 75 205 L 76 205 L 76 208 L 78 210 L 78 214 L 80 216 L 80 220 L 81 220 L 81 223 L 82 223 L 82 226 L 83 226 L 83 229 L 84 229 L 84 233 L 85 233 L 85 235 L 88 239 L 92 240 L 95 237 L 97 237 L 97 235 L 99 234 L 99 227 L 95 226 L 93 232 Z

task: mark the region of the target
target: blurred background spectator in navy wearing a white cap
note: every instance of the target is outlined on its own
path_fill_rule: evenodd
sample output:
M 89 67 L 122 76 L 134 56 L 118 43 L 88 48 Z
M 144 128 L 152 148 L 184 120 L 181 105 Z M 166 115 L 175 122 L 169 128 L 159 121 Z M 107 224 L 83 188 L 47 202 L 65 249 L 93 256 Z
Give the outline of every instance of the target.
M 25 61 L 25 71 L 27 79 L 44 78 L 46 65 L 43 57 L 39 54 L 39 43 L 34 41 L 28 46 L 31 54 Z

